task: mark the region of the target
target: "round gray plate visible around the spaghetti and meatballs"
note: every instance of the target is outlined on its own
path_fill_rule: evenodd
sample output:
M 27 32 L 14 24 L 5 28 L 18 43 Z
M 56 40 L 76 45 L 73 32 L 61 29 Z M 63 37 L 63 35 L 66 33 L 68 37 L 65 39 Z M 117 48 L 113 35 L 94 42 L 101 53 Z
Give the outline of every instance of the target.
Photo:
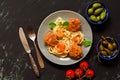
M 38 34 L 37 34 L 37 42 L 38 42 L 38 46 L 42 52 L 42 54 L 51 62 L 58 64 L 58 65 L 72 65 L 75 64 L 79 61 L 81 61 L 89 52 L 91 46 L 89 47 L 84 47 L 82 46 L 83 49 L 83 56 L 82 58 L 78 59 L 78 60 L 73 60 L 69 57 L 66 58 L 60 58 L 57 57 L 53 54 L 50 54 L 45 46 L 44 43 L 44 36 L 47 33 L 48 30 L 50 30 L 49 28 L 49 23 L 50 22 L 54 22 L 58 17 L 62 17 L 64 20 L 68 20 L 69 18 L 78 18 L 81 21 L 82 24 L 82 29 L 81 31 L 83 32 L 83 34 L 85 35 L 85 39 L 86 40 L 91 40 L 93 41 L 93 35 L 92 35 L 92 30 L 90 28 L 90 25 L 88 24 L 88 22 L 84 19 L 84 17 L 82 17 L 80 14 L 70 11 L 70 10 L 60 10 L 60 11 L 56 11 L 52 14 L 50 14 L 49 16 L 47 16 L 43 22 L 41 23 L 39 29 L 38 29 Z

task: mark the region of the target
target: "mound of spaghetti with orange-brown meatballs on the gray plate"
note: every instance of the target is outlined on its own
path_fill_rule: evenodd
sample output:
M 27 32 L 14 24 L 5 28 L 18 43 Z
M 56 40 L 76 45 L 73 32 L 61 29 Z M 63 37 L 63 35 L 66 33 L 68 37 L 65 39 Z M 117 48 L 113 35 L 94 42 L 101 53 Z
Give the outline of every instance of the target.
M 54 24 L 55 27 L 48 31 L 44 37 L 48 51 L 58 57 L 69 56 L 73 59 L 82 57 L 81 44 L 85 38 L 80 31 L 80 20 L 70 18 L 67 22 L 58 17 Z

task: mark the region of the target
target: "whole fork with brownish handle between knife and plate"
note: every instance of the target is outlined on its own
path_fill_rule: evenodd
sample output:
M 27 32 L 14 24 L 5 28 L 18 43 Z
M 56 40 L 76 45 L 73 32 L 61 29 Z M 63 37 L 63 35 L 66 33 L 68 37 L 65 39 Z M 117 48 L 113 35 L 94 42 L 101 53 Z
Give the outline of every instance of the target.
M 31 27 L 28 27 L 27 30 L 28 30 L 28 37 L 29 37 L 29 39 L 32 40 L 33 43 L 34 43 L 34 47 L 35 47 L 36 56 L 37 56 L 37 60 L 38 60 L 39 66 L 40 66 L 41 68 L 44 68 L 43 59 L 42 59 L 42 57 L 41 57 L 41 55 L 40 55 L 40 52 L 39 52 L 39 50 L 38 50 L 38 47 L 37 47 L 37 45 L 36 45 L 36 43 L 35 43 L 36 34 L 35 34 L 34 30 L 33 30 Z

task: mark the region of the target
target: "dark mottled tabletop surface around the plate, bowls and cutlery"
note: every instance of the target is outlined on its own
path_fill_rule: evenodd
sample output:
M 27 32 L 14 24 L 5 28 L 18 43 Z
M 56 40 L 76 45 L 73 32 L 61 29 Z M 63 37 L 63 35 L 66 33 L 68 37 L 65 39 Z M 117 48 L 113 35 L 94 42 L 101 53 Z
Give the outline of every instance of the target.
M 113 36 L 120 40 L 119 0 L 0 0 L 0 80 L 65 80 L 65 71 L 75 69 L 79 63 L 71 66 L 59 66 L 49 62 L 44 56 L 45 69 L 40 69 L 40 78 L 36 78 L 31 68 L 28 55 L 19 39 L 18 29 L 26 32 L 32 26 L 37 33 L 42 20 L 50 13 L 58 10 L 72 10 L 85 17 L 85 8 L 94 1 L 105 3 L 109 8 L 109 19 L 100 27 L 103 30 L 93 31 L 93 46 L 84 58 L 95 71 L 93 80 L 120 80 L 120 59 L 112 65 L 104 65 L 97 61 L 96 44 L 102 35 Z M 35 51 L 28 39 L 32 54 Z M 35 59 L 37 61 L 37 59 Z M 38 63 L 37 63 L 38 64 Z

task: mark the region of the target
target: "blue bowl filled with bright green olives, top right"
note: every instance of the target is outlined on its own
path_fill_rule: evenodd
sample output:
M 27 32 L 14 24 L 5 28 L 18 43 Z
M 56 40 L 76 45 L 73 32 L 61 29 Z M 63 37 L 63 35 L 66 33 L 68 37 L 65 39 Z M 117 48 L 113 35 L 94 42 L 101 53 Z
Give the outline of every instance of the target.
M 108 7 L 102 2 L 93 2 L 85 10 L 87 20 L 93 25 L 100 25 L 108 20 Z

